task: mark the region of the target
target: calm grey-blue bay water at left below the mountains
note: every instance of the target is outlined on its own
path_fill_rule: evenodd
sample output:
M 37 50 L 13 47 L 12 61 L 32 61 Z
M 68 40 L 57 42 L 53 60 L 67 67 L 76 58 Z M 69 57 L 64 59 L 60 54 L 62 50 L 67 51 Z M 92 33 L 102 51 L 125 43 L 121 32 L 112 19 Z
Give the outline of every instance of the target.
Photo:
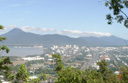
M 17 46 L 9 46 L 9 53 L 5 51 L 1 52 L 2 56 L 19 56 L 24 57 L 27 55 L 40 55 L 43 53 L 43 48 L 38 47 L 17 47 Z

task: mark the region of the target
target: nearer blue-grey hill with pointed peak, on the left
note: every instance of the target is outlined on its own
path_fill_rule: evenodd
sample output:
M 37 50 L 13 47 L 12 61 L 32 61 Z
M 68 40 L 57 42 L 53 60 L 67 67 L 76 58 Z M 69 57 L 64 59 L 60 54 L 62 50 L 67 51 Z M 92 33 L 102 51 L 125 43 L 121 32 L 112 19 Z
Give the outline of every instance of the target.
M 84 39 L 81 38 L 70 38 L 58 34 L 49 34 L 49 35 L 39 35 L 34 33 L 24 32 L 18 28 L 15 28 L 8 33 L 3 34 L 2 36 L 7 37 L 7 40 L 4 41 L 5 44 L 25 44 L 25 45 L 91 45 Z

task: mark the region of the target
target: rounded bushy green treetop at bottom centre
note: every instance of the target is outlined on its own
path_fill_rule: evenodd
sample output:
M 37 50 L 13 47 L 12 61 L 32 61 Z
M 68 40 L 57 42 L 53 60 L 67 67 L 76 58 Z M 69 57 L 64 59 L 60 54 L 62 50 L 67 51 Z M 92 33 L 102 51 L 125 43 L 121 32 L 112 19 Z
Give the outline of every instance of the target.
M 80 70 L 69 66 L 58 72 L 56 83 L 81 83 L 81 74 L 82 72 Z

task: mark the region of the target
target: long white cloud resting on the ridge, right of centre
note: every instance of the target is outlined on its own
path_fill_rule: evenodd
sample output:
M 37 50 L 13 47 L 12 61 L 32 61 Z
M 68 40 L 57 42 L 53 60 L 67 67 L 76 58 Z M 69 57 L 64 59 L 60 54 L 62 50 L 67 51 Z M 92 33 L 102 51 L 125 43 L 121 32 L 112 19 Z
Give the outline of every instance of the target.
M 78 30 L 68 30 L 64 29 L 63 31 L 57 32 L 61 35 L 68 35 L 72 37 L 103 37 L 103 36 L 111 36 L 110 33 L 101 33 L 101 32 L 87 32 L 87 31 L 78 31 Z

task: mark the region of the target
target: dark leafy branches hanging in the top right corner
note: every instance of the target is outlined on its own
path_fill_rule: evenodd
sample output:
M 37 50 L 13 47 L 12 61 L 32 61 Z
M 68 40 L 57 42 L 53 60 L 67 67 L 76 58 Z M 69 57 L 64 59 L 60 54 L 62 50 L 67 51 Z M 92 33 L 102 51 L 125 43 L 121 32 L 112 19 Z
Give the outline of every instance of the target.
M 105 6 L 112 10 L 113 15 L 106 15 L 108 24 L 112 24 L 113 20 L 117 20 L 117 23 L 124 23 L 124 26 L 128 28 L 128 15 L 124 12 L 128 8 L 128 0 L 105 0 Z

